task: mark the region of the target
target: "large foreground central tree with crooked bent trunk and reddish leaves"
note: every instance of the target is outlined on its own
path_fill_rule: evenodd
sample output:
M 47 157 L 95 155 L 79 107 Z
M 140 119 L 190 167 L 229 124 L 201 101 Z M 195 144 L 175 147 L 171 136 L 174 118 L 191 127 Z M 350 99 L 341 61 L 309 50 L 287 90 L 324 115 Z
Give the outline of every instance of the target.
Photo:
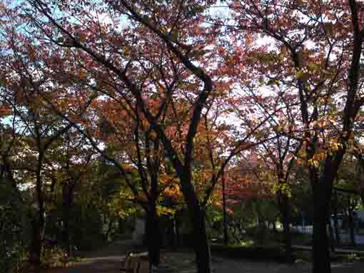
M 70 48 L 71 52 L 75 52 L 75 62 L 82 60 L 84 81 L 108 86 L 106 96 L 113 99 L 115 94 L 121 96 L 128 103 L 128 108 L 143 115 L 158 135 L 180 180 L 193 222 L 198 272 L 211 271 L 206 203 L 228 161 L 250 147 L 245 145 L 249 132 L 236 140 L 226 160 L 221 161 L 220 167 L 211 175 L 202 201 L 199 200 L 193 182 L 194 142 L 201 115 L 209 100 L 212 102 L 211 94 L 216 93 L 213 84 L 215 69 L 211 63 L 216 51 L 211 48 L 216 48 L 214 37 L 218 29 L 203 25 L 203 12 L 213 3 L 172 1 L 151 7 L 148 1 L 101 4 L 64 1 L 56 5 L 36 0 L 26 1 L 26 8 L 22 11 L 33 22 L 35 27 L 30 32 L 39 41 L 50 48 Z M 97 12 L 93 16 L 90 9 L 106 14 L 111 9 L 112 23 L 101 23 Z M 75 24 L 72 17 L 81 24 Z M 125 20 L 128 24 L 123 25 Z M 122 28 L 118 29 L 118 26 Z M 168 78 L 169 83 L 184 83 L 181 93 L 172 92 L 165 85 L 150 88 L 151 83 L 157 86 L 163 83 L 161 73 L 156 69 L 158 66 L 163 68 L 167 75 L 164 78 Z M 159 104 L 151 109 L 148 103 L 150 96 L 157 96 L 159 100 Z M 183 138 L 179 143 L 173 143 L 167 133 L 168 127 L 161 121 L 161 113 L 164 108 L 173 108 L 173 103 L 183 97 L 188 101 L 188 109 L 183 109 L 183 115 L 175 113 L 175 118 L 181 120 L 179 123 L 185 123 L 183 128 L 187 130 L 181 131 Z

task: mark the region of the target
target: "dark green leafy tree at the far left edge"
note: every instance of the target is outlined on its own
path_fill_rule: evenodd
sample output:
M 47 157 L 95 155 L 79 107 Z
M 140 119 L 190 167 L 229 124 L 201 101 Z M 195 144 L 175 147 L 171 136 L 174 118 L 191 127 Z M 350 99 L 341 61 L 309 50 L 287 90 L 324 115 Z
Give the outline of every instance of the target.
M 1 101 L 6 105 L 6 89 L 0 86 Z M 5 97 L 4 97 L 5 96 Z M 11 104 L 10 104 L 11 105 Z M 26 260 L 29 242 L 29 212 L 24 195 L 19 190 L 11 169 L 11 158 L 18 138 L 16 120 L 12 108 L 6 107 L 1 115 L 0 133 L 0 270 L 1 272 L 21 272 Z

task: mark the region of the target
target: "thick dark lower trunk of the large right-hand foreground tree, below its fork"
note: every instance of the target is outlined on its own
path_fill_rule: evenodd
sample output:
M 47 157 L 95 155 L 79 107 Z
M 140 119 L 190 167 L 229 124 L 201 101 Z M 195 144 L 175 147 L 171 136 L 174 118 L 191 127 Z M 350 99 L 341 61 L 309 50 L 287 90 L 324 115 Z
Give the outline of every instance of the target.
M 330 252 L 326 228 L 328 199 L 325 198 L 323 183 L 313 187 L 314 220 L 313 220 L 313 273 L 330 273 Z

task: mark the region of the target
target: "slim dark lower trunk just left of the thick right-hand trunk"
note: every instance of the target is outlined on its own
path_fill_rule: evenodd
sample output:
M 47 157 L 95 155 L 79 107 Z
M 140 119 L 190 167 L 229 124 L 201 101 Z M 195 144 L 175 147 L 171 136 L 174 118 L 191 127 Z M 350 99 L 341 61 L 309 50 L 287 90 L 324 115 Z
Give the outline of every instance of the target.
M 280 194 L 280 212 L 283 220 L 283 234 L 285 245 L 285 261 L 293 262 L 292 255 L 292 236 L 290 234 L 290 206 L 288 196 Z

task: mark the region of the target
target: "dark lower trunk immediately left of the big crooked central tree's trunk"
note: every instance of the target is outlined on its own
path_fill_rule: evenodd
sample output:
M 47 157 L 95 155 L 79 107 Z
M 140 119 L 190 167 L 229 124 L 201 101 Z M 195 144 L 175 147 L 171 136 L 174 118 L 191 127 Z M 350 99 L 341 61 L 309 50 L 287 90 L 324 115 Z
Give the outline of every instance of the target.
M 146 210 L 146 243 L 148 244 L 149 263 L 158 265 L 161 262 L 161 231 L 154 204 Z

